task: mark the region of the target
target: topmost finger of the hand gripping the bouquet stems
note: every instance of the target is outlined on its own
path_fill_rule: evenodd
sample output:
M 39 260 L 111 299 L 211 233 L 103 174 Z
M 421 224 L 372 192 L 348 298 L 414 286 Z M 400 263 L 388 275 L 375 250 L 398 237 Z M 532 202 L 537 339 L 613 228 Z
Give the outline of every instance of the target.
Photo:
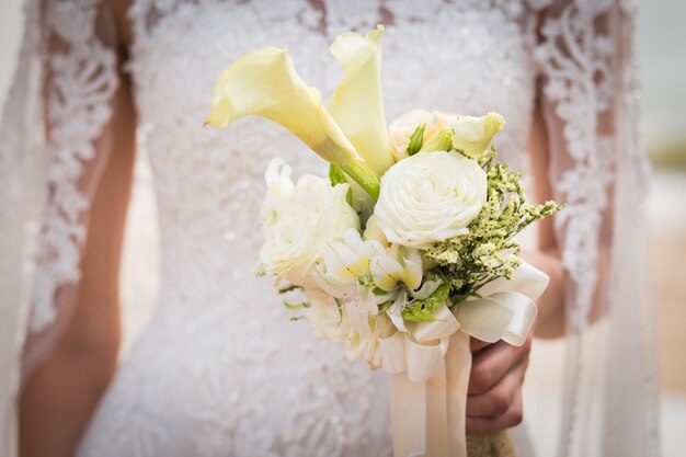
M 491 389 L 514 365 L 528 357 L 529 351 L 530 340 L 521 347 L 499 341 L 473 355 L 468 393 L 483 393 Z

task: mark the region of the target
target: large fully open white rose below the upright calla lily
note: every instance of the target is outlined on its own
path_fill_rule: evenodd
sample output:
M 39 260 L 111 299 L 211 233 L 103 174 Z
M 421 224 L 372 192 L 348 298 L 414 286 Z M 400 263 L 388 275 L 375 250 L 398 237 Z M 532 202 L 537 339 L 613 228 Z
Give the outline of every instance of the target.
M 468 233 L 487 201 L 487 176 L 458 152 L 419 152 L 391 167 L 381 179 L 374 208 L 386 238 L 425 249 Z

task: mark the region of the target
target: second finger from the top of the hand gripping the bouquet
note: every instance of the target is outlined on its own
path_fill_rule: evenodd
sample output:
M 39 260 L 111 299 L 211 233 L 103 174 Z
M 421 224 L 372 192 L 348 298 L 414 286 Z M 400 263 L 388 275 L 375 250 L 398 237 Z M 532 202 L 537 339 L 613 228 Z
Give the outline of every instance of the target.
M 492 389 L 467 396 L 467 415 L 492 418 L 504 414 L 514 402 L 517 391 L 522 389 L 527 365 L 527 359 L 519 362 Z

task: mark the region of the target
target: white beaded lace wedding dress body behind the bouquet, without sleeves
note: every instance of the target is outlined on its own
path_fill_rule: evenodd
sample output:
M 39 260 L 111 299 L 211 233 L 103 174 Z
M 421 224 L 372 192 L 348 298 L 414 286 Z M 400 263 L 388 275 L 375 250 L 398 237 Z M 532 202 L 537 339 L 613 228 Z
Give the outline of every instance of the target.
M 135 1 L 128 68 L 158 199 L 161 296 L 81 455 L 387 455 L 384 374 L 286 322 L 270 284 L 252 275 L 270 159 L 296 173 L 325 164 L 263 119 L 203 128 L 214 79 L 248 50 L 288 46 L 325 95 L 342 78 L 327 52 L 333 37 L 384 22 L 388 119 L 418 107 L 496 110 L 508 122 L 501 153 L 519 162 L 534 99 L 531 18 L 526 3 L 504 0 L 421 10 L 402 0 Z

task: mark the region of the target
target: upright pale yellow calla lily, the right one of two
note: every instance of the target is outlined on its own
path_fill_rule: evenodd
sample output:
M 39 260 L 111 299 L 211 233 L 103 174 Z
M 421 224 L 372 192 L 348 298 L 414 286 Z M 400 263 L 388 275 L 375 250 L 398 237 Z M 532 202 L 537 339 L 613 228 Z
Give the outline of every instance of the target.
M 379 175 L 393 163 L 381 94 L 381 35 L 384 26 L 362 36 L 339 35 L 331 54 L 343 67 L 345 78 L 327 106 L 357 152 Z

